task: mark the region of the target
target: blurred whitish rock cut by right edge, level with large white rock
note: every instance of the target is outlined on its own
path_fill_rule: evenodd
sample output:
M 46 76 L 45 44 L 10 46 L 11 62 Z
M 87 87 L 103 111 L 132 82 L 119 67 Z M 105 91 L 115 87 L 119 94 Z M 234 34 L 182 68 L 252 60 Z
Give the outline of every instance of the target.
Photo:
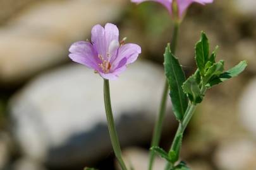
M 256 139 L 256 79 L 245 88 L 240 99 L 240 120 L 242 125 L 253 134 Z

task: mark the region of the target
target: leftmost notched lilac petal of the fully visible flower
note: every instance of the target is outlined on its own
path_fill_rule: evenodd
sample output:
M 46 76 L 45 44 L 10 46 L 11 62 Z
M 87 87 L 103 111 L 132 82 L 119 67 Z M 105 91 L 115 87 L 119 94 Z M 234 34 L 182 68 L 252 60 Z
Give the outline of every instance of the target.
M 71 54 L 69 54 L 68 56 L 74 62 L 86 65 L 91 69 L 99 70 L 97 60 L 95 59 L 95 56 L 97 56 L 97 54 L 91 43 L 83 41 L 75 42 L 70 46 L 69 51 L 71 52 Z

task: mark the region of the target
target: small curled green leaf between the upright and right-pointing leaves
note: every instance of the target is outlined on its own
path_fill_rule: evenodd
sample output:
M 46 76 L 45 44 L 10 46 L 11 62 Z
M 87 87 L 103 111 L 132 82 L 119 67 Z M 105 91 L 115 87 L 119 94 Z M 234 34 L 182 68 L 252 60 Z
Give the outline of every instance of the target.
M 204 76 L 204 83 L 207 84 L 207 82 L 210 80 L 212 76 L 219 76 L 224 71 L 224 60 L 220 60 L 219 62 L 213 64 Z

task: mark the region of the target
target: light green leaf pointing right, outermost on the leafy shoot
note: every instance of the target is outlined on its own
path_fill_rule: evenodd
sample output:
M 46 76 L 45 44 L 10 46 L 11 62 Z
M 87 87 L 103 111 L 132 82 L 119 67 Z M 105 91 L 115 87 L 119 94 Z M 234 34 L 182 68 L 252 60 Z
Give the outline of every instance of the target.
M 216 84 L 219 84 L 228 79 L 231 79 L 232 77 L 238 76 L 241 72 L 245 70 L 246 67 L 247 67 L 247 61 L 241 61 L 238 65 L 236 65 L 232 69 L 229 69 L 228 71 L 222 73 L 221 75 L 214 76 L 212 79 L 210 79 L 209 83 L 206 85 L 207 88 L 211 88 Z

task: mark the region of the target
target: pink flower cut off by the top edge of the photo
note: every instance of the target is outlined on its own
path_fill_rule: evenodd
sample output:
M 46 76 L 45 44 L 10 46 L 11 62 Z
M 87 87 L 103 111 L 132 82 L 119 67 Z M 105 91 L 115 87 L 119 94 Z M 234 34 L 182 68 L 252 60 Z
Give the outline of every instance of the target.
M 181 18 L 183 13 L 186 11 L 186 8 L 190 6 L 192 3 L 200 3 L 200 4 L 207 4 L 212 3 L 214 0 L 131 0 L 133 3 L 143 3 L 145 1 L 155 1 L 157 3 L 161 3 L 165 6 L 170 14 L 173 14 L 173 5 L 176 1 L 178 7 L 178 16 Z

